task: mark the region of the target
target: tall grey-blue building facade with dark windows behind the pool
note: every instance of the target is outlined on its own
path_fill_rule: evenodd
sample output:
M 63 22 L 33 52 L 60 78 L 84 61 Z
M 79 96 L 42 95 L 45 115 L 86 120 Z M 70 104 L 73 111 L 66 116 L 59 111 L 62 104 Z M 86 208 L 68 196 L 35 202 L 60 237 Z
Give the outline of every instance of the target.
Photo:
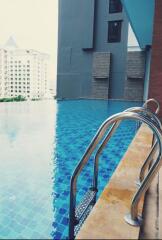
M 57 97 L 123 99 L 127 39 L 120 0 L 59 0 Z

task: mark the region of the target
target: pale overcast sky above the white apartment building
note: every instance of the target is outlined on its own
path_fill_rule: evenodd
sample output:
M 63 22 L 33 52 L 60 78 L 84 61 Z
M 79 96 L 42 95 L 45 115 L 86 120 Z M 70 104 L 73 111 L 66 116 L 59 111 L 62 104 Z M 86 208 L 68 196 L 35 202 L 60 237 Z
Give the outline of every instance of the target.
M 12 35 L 20 48 L 51 56 L 51 79 L 56 77 L 58 0 L 0 0 L 0 45 Z

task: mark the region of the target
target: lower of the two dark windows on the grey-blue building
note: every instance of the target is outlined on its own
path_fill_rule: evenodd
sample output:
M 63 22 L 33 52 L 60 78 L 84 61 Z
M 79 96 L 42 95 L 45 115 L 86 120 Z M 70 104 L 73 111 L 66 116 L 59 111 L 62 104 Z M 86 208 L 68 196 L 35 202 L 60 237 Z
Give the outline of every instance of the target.
M 109 21 L 108 23 L 108 42 L 120 42 L 122 21 Z

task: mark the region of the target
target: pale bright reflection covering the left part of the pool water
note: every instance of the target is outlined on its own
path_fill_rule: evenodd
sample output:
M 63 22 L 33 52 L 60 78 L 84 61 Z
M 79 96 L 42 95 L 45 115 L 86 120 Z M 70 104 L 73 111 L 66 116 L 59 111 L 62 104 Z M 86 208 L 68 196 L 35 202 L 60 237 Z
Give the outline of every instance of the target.
M 0 104 L 0 238 L 51 238 L 54 101 Z

